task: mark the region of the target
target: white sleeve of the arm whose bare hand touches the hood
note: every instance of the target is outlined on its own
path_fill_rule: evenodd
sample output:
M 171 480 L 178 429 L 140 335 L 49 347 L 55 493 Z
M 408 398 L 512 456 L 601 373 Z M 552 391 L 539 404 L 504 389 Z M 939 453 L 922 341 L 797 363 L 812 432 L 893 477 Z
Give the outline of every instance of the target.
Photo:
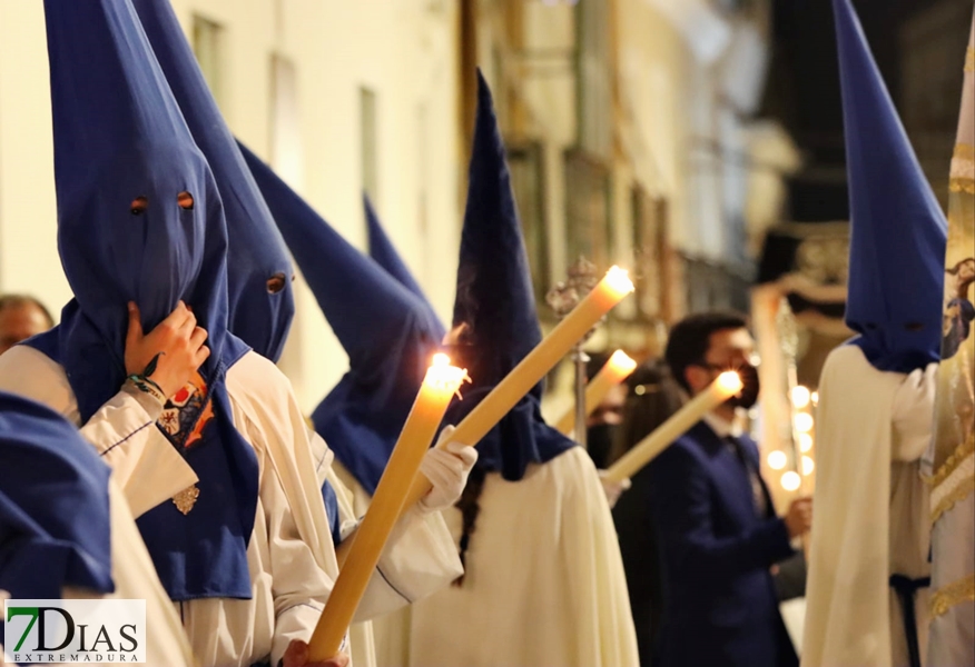
M 85 439 L 112 468 L 112 478 L 135 517 L 197 481 L 193 468 L 155 428 L 161 412 L 156 401 L 119 391 L 81 426 L 65 369 L 43 352 L 22 345 L 0 355 L 0 390 L 43 404 L 79 426 Z

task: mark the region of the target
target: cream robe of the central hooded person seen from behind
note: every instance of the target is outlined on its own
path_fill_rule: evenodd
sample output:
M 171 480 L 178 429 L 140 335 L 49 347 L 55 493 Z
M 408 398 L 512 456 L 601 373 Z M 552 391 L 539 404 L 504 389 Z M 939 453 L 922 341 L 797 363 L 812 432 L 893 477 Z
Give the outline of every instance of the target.
M 637 667 L 619 542 L 585 451 L 529 466 L 518 482 L 489 474 L 479 504 L 463 587 L 411 609 L 408 664 Z M 459 540 L 460 511 L 444 515 Z

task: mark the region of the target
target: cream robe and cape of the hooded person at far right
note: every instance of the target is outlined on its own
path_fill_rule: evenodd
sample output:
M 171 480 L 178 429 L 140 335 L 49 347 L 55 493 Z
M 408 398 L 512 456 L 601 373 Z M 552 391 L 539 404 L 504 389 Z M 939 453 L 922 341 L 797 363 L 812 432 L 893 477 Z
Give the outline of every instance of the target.
M 819 382 L 816 494 L 802 667 L 908 665 L 893 574 L 929 575 L 926 441 L 899 437 L 894 397 L 905 375 L 882 372 L 853 345 L 829 354 Z M 915 615 L 924 658 L 928 590 Z

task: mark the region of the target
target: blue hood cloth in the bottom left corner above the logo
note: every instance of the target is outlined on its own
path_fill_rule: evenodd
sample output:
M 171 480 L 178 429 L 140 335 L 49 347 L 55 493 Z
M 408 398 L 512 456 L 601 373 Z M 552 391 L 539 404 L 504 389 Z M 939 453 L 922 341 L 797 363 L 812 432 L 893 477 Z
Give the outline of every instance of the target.
M 27 599 L 115 590 L 109 474 L 63 417 L 0 392 L 0 589 Z

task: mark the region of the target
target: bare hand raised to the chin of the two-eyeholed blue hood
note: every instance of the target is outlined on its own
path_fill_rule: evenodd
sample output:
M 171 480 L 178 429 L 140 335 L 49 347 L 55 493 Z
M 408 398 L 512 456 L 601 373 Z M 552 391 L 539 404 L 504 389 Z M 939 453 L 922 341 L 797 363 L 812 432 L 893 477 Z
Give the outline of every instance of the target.
M 204 345 L 206 329 L 196 326 L 196 317 L 179 301 L 173 312 L 147 336 L 142 334 L 139 307 L 129 302 L 129 330 L 126 334 L 126 374 L 150 378 L 166 398 L 179 391 L 203 366 L 210 350 Z

